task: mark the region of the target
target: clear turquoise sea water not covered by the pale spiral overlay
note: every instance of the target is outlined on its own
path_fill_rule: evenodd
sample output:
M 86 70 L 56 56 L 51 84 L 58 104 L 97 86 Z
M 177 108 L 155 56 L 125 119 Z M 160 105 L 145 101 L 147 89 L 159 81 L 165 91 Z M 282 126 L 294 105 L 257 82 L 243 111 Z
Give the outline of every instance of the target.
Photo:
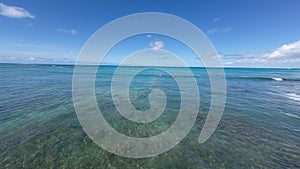
M 0 168 L 300 167 L 299 69 L 225 69 L 222 120 L 212 137 L 199 144 L 210 106 L 210 83 L 205 69 L 192 68 L 201 105 L 191 132 L 166 153 L 130 159 L 101 149 L 81 128 L 72 102 L 73 68 L 0 64 Z M 176 78 L 185 78 L 182 68 L 170 69 L 178 72 Z M 100 67 L 95 84 L 98 105 L 111 126 L 128 136 L 148 137 L 172 125 L 180 109 L 180 92 L 171 76 L 149 68 L 133 79 L 130 98 L 136 109 L 150 108 L 148 94 L 153 88 L 163 90 L 168 99 L 161 117 L 137 124 L 114 107 L 110 92 L 114 70 Z

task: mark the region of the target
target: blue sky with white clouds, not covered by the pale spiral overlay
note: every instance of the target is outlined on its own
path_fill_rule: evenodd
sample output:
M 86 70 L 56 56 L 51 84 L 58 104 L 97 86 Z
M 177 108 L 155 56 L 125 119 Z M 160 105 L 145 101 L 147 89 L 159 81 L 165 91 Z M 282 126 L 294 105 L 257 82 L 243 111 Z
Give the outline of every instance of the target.
M 73 64 L 102 26 L 129 14 L 162 12 L 197 26 L 224 67 L 299 68 L 299 6 L 298 0 L 0 0 L 0 63 Z M 151 34 L 120 42 L 103 63 L 118 64 L 142 49 L 168 50 L 198 65 L 184 44 Z

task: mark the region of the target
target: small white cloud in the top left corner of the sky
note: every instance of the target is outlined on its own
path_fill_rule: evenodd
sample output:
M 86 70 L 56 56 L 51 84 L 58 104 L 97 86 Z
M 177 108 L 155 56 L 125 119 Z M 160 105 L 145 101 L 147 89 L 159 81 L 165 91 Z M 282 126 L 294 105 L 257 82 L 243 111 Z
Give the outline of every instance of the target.
M 35 18 L 26 9 L 16 6 L 8 6 L 0 3 L 0 15 L 9 18 Z

